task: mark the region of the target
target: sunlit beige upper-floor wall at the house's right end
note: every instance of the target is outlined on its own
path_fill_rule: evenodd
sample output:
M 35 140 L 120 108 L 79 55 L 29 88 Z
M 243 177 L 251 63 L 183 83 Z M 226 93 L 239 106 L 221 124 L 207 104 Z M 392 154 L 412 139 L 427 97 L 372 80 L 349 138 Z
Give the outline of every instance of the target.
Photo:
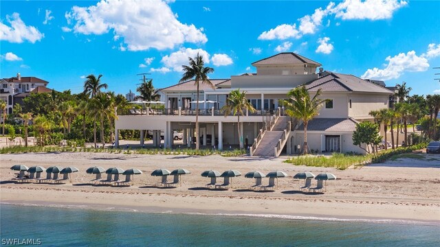
M 354 119 L 372 119 L 373 117 L 369 115 L 369 112 L 371 110 L 388 108 L 389 95 L 373 93 L 352 93 L 351 95 L 349 95 L 349 100 L 350 99 L 350 117 L 353 117 Z

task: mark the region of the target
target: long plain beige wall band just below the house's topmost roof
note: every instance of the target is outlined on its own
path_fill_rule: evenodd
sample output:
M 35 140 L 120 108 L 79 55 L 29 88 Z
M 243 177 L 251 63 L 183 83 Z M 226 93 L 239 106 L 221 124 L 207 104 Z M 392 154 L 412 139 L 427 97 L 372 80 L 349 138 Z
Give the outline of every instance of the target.
M 316 80 L 318 75 L 252 75 L 252 76 L 231 76 L 231 88 L 289 88 Z

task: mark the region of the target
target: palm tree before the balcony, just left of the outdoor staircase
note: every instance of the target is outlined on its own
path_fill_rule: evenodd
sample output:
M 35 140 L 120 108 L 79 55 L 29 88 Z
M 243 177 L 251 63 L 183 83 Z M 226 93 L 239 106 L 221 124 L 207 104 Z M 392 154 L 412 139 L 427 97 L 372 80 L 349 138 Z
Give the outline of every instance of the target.
M 240 149 L 243 148 L 243 133 L 241 133 L 240 128 L 240 115 L 244 116 L 244 113 L 246 110 L 250 110 L 251 113 L 255 112 L 254 106 L 248 102 L 248 99 L 246 99 L 246 92 L 243 91 L 240 93 L 240 89 L 232 90 L 229 93 L 229 97 L 226 101 L 226 105 L 221 108 L 221 110 L 224 110 L 225 117 L 228 117 L 231 113 L 235 116 L 237 113 L 237 129 L 239 133 L 239 143 L 240 143 Z

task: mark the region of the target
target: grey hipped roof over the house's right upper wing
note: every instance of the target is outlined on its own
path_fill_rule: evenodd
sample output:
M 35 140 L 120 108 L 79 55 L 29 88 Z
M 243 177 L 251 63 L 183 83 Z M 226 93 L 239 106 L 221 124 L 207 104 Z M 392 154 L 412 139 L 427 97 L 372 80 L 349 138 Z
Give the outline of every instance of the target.
M 308 91 L 312 92 L 322 89 L 322 91 L 325 92 L 394 93 L 383 86 L 379 86 L 368 80 L 362 80 L 354 75 L 331 72 L 328 75 L 308 82 L 305 86 Z

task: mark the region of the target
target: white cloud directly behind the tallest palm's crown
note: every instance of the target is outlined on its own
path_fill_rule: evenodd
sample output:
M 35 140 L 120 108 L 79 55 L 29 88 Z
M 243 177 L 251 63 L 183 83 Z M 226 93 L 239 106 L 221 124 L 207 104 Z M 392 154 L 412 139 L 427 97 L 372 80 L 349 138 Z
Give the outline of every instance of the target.
M 205 63 L 209 63 L 210 55 L 203 49 L 191 49 L 191 48 L 181 48 L 179 51 L 175 51 L 169 56 L 164 56 L 161 60 L 165 67 L 172 68 L 173 71 L 182 71 L 182 65 L 188 65 L 188 58 L 195 58 L 197 54 L 203 57 Z

